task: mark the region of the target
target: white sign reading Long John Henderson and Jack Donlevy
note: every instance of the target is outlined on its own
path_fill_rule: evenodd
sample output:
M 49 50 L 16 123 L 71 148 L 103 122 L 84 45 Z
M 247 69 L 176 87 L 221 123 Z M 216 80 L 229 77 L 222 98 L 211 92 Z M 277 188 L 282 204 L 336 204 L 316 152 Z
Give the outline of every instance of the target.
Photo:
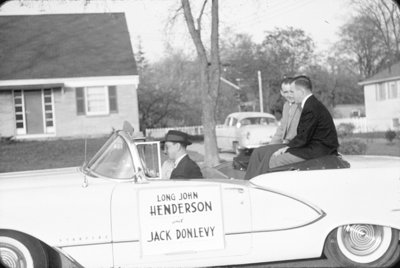
M 219 186 L 142 189 L 138 197 L 143 255 L 224 248 Z

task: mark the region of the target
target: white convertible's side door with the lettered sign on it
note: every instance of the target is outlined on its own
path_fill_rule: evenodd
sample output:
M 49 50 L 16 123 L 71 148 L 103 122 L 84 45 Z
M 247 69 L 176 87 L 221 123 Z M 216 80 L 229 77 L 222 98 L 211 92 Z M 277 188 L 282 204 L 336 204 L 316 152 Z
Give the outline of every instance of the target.
M 111 207 L 116 267 L 214 265 L 251 247 L 249 193 L 240 185 L 121 183 Z

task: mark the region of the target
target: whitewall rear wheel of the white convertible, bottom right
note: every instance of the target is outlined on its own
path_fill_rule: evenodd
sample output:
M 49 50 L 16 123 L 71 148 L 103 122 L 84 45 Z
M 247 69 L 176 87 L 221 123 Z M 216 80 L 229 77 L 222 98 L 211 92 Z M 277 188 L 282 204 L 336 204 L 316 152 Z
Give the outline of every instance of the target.
M 390 267 L 400 256 L 399 231 L 371 224 L 352 224 L 332 231 L 324 253 L 342 267 Z

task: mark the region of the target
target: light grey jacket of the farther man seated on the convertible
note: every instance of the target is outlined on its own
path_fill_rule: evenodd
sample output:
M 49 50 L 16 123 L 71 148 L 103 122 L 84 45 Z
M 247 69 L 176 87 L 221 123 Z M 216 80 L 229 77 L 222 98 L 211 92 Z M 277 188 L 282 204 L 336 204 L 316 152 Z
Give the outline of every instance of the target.
M 299 124 L 301 109 L 297 104 L 292 107 L 293 113 L 290 114 L 289 110 L 291 105 L 289 102 L 283 104 L 281 124 L 278 126 L 275 135 L 272 137 L 270 144 L 282 143 L 284 140 L 291 140 L 297 134 L 297 125 Z

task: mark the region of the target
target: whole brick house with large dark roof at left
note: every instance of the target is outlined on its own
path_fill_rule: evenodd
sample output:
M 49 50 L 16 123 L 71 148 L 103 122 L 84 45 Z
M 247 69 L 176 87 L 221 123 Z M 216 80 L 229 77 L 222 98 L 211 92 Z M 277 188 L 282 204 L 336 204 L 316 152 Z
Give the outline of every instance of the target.
M 139 129 L 138 72 L 124 13 L 0 16 L 0 136 Z

